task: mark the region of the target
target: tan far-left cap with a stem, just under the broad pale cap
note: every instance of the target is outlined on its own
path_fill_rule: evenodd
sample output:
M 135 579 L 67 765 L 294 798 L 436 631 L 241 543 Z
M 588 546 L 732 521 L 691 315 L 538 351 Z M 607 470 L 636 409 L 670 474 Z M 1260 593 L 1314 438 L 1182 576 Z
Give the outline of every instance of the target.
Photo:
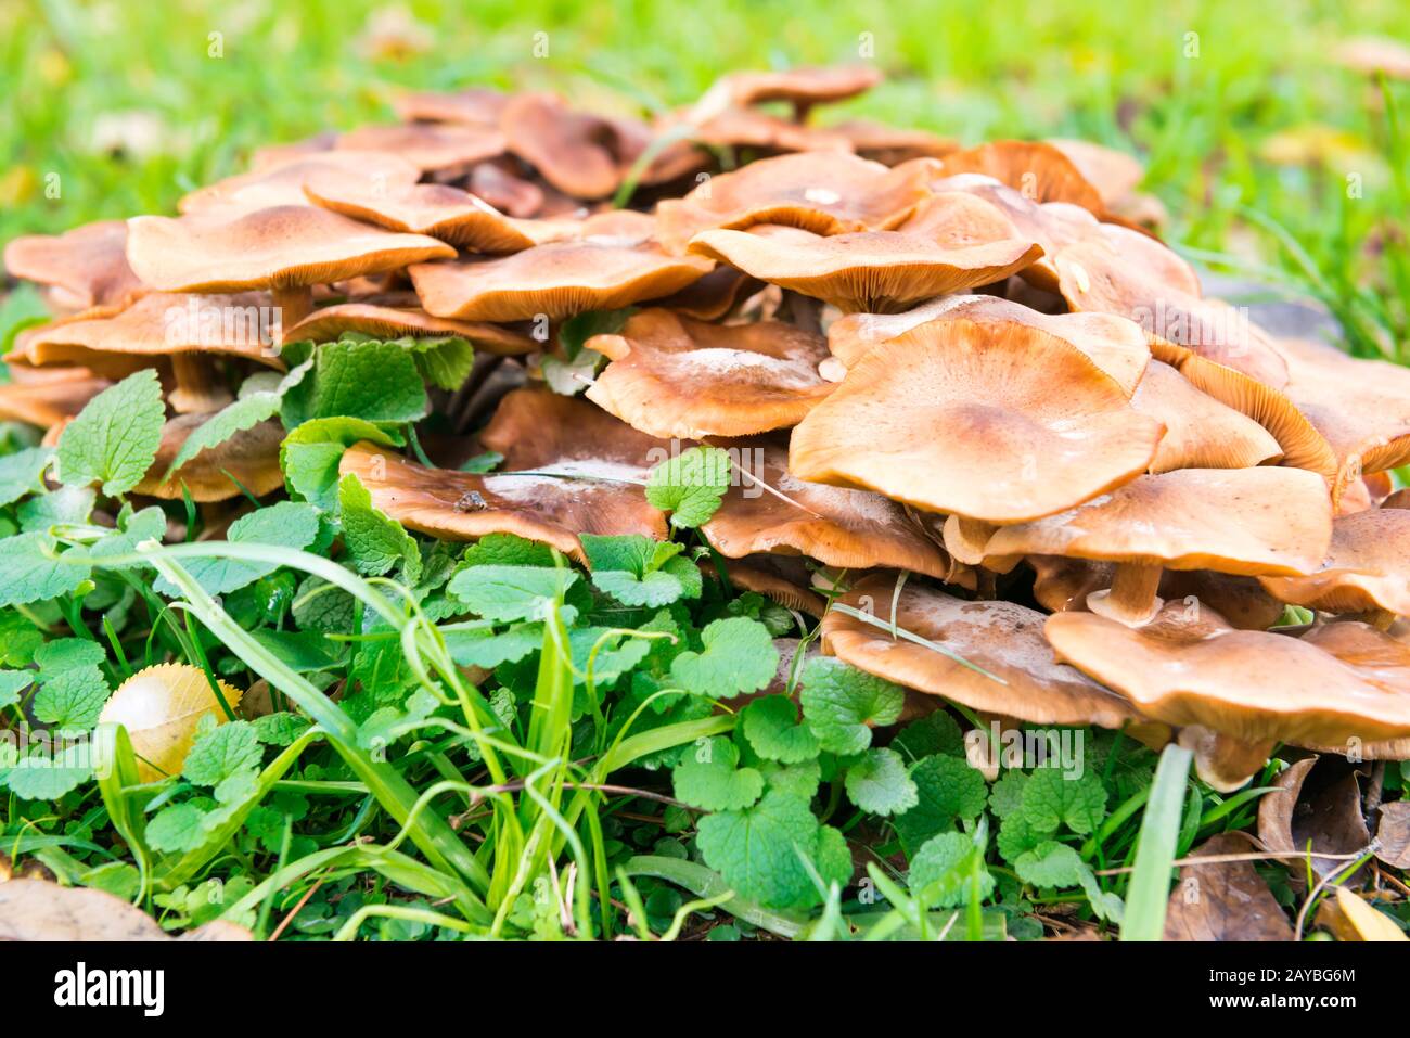
M 109 377 L 186 353 L 282 368 L 274 350 L 278 329 L 272 329 L 269 307 L 269 296 L 261 292 L 154 292 L 111 317 L 70 319 L 35 329 L 24 337 L 23 355 L 35 367 L 82 364 Z

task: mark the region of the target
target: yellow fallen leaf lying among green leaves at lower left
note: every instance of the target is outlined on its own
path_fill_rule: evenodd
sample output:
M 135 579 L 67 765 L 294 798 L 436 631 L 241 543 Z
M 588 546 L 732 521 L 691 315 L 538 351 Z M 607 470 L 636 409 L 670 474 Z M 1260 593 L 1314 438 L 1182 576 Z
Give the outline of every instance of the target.
M 220 691 L 231 709 L 240 705 L 240 690 L 221 681 Z M 186 663 L 164 663 L 118 685 L 99 721 L 127 728 L 138 774 L 142 781 L 157 781 L 180 773 L 196 740 L 196 725 L 206 714 L 213 714 L 216 723 L 226 722 L 206 674 Z

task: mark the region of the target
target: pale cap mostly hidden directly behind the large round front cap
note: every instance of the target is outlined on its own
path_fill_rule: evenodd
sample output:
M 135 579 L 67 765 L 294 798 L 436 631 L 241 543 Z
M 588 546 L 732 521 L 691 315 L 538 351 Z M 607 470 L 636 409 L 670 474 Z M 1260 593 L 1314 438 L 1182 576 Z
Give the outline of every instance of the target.
M 1022 303 L 990 295 L 933 299 L 904 313 L 849 313 L 828 327 L 832 355 L 853 367 L 873 346 L 939 320 L 976 324 L 1026 324 L 1081 350 L 1117 381 L 1129 398 L 1151 362 L 1151 347 L 1138 324 L 1108 313 L 1041 313 Z

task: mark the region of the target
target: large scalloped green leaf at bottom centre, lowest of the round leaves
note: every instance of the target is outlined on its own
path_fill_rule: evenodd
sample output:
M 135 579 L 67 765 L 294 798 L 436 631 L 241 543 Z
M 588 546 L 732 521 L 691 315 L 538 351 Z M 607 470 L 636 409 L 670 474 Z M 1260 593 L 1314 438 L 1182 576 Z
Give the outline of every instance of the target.
M 774 908 L 819 900 L 802 862 L 815 860 L 819 849 L 818 819 L 807 800 L 773 790 L 743 811 L 701 818 L 697 834 L 705 863 L 740 897 Z

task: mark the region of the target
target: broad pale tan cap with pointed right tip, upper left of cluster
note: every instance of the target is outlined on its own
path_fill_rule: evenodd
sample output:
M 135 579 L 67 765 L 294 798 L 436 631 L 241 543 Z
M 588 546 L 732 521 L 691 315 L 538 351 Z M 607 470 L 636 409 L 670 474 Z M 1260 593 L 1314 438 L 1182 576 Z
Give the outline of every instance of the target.
M 455 255 L 444 241 L 392 234 L 313 206 L 127 221 L 133 269 L 164 292 L 327 285 Z

